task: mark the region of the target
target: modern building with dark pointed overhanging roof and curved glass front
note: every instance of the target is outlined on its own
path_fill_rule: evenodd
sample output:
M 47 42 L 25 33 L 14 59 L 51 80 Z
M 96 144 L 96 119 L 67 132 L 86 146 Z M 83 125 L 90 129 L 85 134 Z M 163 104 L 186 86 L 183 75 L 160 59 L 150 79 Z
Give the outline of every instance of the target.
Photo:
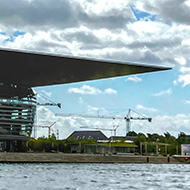
M 10 49 L 0 49 L 0 58 L 0 151 L 21 151 L 30 138 L 37 106 L 32 87 L 170 69 Z

